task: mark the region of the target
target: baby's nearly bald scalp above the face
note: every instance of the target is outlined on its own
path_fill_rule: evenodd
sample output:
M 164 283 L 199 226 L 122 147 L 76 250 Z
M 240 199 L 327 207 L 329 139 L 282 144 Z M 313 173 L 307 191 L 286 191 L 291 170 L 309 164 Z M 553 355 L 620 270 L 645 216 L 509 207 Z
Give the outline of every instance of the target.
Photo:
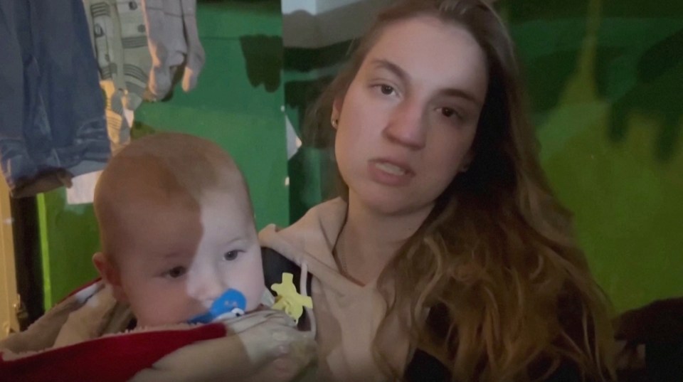
M 198 218 L 203 194 L 229 192 L 253 215 L 246 184 L 233 159 L 218 145 L 189 134 L 154 134 L 131 142 L 112 157 L 95 188 L 95 216 L 102 250 L 117 252 L 135 216 L 169 208 Z

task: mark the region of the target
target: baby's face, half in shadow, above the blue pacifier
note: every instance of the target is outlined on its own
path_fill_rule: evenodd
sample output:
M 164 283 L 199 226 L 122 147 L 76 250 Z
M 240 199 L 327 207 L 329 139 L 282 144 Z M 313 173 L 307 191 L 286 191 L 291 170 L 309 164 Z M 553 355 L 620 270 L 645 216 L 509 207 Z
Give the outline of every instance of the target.
M 228 289 L 243 293 L 245 311 L 265 290 L 261 251 L 244 193 L 210 191 L 201 211 L 140 211 L 136 234 L 117 255 L 122 290 L 138 325 L 186 322 Z M 129 231 L 131 232 L 131 231 Z

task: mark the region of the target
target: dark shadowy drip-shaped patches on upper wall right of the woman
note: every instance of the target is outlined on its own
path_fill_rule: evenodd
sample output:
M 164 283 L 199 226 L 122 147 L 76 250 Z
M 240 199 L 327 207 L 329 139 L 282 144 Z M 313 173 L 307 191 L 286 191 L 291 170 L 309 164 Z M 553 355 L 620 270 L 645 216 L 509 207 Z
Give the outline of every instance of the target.
M 638 113 L 657 122 L 652 155 L 672 159 L 682 144 L 683 6 L 665 3 L 642 9 L 634 1 L 502 2 L 529 73 L 537 125 L 561 107 L 567 83 L 581 70 L 582 49 L 594 40 L 591 73 L 598 97 L 611 107 L 610 142 L 625 141 L 630 117 Z

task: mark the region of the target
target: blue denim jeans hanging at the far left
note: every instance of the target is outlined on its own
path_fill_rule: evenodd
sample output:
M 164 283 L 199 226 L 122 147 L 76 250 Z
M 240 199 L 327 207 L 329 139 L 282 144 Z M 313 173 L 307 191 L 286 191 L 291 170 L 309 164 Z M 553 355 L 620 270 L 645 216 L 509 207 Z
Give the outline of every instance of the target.
M 110 156 L 82 0 L 0 0 L 0 165 L 14 196 L 69 185 Z

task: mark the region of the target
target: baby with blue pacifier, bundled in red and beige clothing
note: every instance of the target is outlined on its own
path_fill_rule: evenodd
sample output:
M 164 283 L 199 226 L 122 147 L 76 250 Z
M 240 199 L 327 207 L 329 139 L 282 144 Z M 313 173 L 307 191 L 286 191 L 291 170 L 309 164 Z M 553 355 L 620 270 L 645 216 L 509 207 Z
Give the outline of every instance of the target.
M 314 337 L 285 315 L 310 297 L 285 280 L 275 304 L 265 291 L 247 187 L 216 144 L 132 142 L 102 172 L 95 214 L 102 281 L 0 341 L 1 381 L 277 382 L 314 371 Z M 256 309 L 262 298 L 272 309 Z

